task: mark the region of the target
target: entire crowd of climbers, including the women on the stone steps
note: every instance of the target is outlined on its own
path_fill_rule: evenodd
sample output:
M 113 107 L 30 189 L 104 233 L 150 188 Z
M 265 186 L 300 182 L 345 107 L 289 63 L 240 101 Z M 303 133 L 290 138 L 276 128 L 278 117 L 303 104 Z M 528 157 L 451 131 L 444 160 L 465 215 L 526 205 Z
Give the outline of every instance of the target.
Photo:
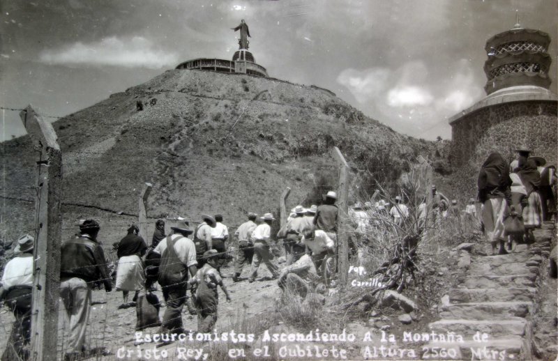
M 424 228 L 428 213 L 432 214 L 433 222 L 452 217 L 478 217 L 492 254 L 510 252 L 514 242 L 530 245 L 534 242 L 533 229 L 540 227 L 544 220 L 556 217 L 557 175 L 555 166 L 546 165 L 541 157 L 529 156 L 531 152 L 525 148 L 518 149 L 517 153 L 518 158 L 511 164 L 497 152 L 488 155 L 478 174 L 480 207 L 471 198 L 465 209 L 461 209 L 458 201 L 450 201 L 435 186 L 431 189 L 432 203 L 427 206 L 424 199 L 416 210 L 410 210 L 400 196 L 395 197 L 392 206 L 383 199 L 355 203 L 349 209 L 356 235 L 352 240 L 354 249 L 358 253 L 370 241 L 367 238 L 370 227 L 378 226 L 375 215 L 383 215 L 393 225 L 402 226 L 411 211 L 416 211 L 419 229 Z M 301 298 L 306 298 L 308 293 L 326 292 L 320 270 L 324 268 L 324 260 L 336 252 L 339 217 L 336 201 L 337 194 L 330 191 L 320 206 L 296 206 L 276 237 L 271 235 L 276 221 L 273 214 L 257 217 L 248 213 L 248 220 L 234 232 L 237 248 L 232 281 L 255 282 L 259 266 L 264 263 L 271 279 L 277 279 L 284 291 Z M 185 332 L 182 323 L 185 305 L 190 314 L 197 314 L 197 332 L 213 330 L 218 314 L 218 289 L 225 293 L 227 302 L 231 300 L 221 273 L 223 265 L 232 259 L 231 252 L 227 251 L 231 239 L 223 215 L 201 215 L 201 218 L 202 222 L 195 228 L 190 228 L 184 219 L 176 220 L 169 235 L 165 221 L 158 220 L 151 245 L 147 245 L 140 228 L 131 225 L 126 236 L 114 243 L 119 259 L 114 287 L 123 293 L 120 309 L 136 306 L 140 292 L 151 293 L 158 283 L 166 306 L 160 322 L 162 333 Z M 100 224 L 82 220 L 79 228 L 80 232 L 61 246 L 60 297 L 66 309 L 69 333 L 65 360 L 79 360 L 84 355 L 93 287 L 103 286 L 107 292 L 113 289 L 109 263 L 97 239 Z M 273 238 L 282 240 L 284 247 L 286 265 L 282 270 L 276 260 L 276 249 L 272 247 Z M 34 243 L 29 235 L 17 240 L 17 256 L 3 271 L 0 300 L 6 300 L 15 322 L 2 360 L 29 358 Z M 250 271 L 248 277 L 242 278 L 245 265 L 250 266 Z M 134 293 L 131 302 L 130 292 Z

